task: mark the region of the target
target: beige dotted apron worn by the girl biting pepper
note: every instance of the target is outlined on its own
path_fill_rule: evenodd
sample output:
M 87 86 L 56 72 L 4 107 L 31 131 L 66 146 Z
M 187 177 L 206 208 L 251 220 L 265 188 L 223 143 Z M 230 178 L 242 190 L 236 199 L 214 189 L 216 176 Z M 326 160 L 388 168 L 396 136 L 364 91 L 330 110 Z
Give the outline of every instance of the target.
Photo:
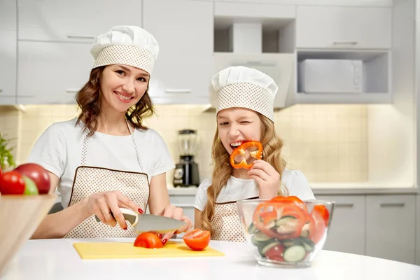
M 258 197 L 251 197 L 253 200 Z M 245 242 L 236 202 L 216 203 L 211 220 L 212 240 Z

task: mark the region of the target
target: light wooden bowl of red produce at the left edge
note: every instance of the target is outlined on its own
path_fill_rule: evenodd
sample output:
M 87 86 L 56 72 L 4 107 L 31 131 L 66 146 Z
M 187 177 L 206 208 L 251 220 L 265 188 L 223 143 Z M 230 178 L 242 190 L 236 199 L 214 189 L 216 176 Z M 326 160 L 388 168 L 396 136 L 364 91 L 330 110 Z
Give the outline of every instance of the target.
M 40 165 L 0 170 L 0 276 L 57 201 L 49 192 L 50 176 Z

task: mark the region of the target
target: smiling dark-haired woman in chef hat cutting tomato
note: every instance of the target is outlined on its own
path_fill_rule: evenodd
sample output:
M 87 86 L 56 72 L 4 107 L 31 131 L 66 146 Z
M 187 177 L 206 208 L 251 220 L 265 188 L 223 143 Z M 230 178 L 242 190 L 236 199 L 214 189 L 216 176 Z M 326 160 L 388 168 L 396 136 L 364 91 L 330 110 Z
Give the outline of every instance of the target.
M 166 172 L 174 162 L 167 146 L 142 124 L 154 113 L 148 84 L 158 52 L 140 27 L 97 37 L 90 78 L 76 95 L 80 115 L 48 127 L 29 155 L 50 172 L 64 208 L 46 216 L 32 238 L 136 237 L 119 207 L 143 214 L 149 206 L 151 214 L 186 221 L 179 232 L 191 227 L 183 209 L 169 204 Z

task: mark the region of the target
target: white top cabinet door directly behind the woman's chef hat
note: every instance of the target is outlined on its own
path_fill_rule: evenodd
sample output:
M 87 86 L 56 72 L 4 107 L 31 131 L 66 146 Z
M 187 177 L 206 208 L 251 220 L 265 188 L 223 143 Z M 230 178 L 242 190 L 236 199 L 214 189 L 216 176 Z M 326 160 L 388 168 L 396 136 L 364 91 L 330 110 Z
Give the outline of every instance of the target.
M 85 41 L 116 25 L 141 26 L 141 0 L 19 0 L 19 39 Z

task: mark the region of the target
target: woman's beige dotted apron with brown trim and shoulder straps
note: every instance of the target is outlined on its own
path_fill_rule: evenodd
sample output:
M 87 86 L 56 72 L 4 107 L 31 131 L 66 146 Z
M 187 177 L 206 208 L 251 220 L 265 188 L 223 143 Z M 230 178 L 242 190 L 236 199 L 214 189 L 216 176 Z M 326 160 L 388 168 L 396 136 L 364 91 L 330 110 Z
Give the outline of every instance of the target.
M 134 150 L 137 154 L 137 162 L 139 163 L 140 170 L 143 171 L 144 169 L 141 165 L 139 150 L 137 149 L 136 141 L 134 139 L 134 132 L 130 130 L 130 133 L 132 135 Z M 147 174 L 141 172 L 106 169 L 103 167 L 85 166 L 88 140 L 89 137 L 87 137 L 87 132 L 85 132 L 81 164 L 76 169 L 76 174 L 74 175 L 69 207 L 94 193 L 119 190 L 123 193 L 123 195 L 130 197 L 131 200 L 139 204 L 141 209 L 146 212 L 149 198 L 149 183 Z M 104 223 L 98 223 L 95 220 L 94 215 L 92 215 L 76 226 L 76 228 L 73 228 L 73 230 L 71 230 L 64 238 L 112 237 L 135 238 L 137 235 L 130 225 L 127 230 L 123 230 L 118 224 L 115 227 L 111 227 L 110 225 L 105 225 Z

